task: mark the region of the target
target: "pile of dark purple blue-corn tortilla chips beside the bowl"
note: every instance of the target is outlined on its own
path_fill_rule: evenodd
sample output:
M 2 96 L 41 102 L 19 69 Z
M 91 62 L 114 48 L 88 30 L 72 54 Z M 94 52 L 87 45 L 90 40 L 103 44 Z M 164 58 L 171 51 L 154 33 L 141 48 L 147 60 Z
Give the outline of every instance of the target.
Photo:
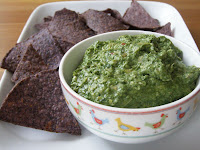
M 13 73 L 15 86 L 0 108 L 0 120 L 74 135 L 81 129 L 65 103 L 57 71 L 63 55 L 76 43 L 110 31 L 139 29 L 172 36 L 171 24 L 160 26 L 137 1 L 123 16 L 112 9 L 78 14 L 64 8 L 35 27 L 39 31 L 17 43 L 1 62 Z

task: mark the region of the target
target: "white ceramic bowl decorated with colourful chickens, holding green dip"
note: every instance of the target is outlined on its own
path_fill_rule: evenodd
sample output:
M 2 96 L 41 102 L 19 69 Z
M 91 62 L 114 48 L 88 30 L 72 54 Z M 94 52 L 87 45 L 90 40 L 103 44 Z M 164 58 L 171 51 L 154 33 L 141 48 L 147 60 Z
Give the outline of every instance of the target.
M 115 31 L 93 36 L 73 46 L 64 55 L 59 67 L 59 76 L 66 102 L 79 123 L 102 138 L 121 143 L 144 143 L 160 139 L 181 127 L 193 114 L 199 101 L 199 82 L 190 94 L 175 102 L 138 109 L 97 104 L 78 95 L 69 86 L 72 72 L 77 68 L 85 50 L 91 44 L 98 40 L 114 40 L 124 34 L 163 36 L 147 31 Z M 195 50 L 173 37 L 166 37 L 183 51 L 183 60 L 187 65 L 200 67 L 200 55 Z

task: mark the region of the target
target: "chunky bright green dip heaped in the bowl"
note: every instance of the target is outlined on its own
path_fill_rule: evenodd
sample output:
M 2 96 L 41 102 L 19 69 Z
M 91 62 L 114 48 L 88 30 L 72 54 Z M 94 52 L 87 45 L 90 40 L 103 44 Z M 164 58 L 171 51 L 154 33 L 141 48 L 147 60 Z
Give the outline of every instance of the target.
M 93 102 L 120 108 L 167 104 L 189 94 L 200 69 L 164 36 L 123 35 L 97 41 L 73 72 L 71 88 Z

